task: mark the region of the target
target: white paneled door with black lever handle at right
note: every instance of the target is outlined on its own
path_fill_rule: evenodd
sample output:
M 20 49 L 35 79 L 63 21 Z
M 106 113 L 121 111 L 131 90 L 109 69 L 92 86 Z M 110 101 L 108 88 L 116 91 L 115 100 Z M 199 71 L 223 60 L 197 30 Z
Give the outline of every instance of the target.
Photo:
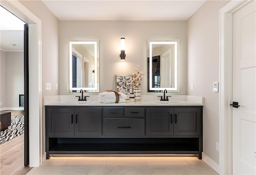
M 256 3 L 233 15 L 232 171 L 256 174 Z

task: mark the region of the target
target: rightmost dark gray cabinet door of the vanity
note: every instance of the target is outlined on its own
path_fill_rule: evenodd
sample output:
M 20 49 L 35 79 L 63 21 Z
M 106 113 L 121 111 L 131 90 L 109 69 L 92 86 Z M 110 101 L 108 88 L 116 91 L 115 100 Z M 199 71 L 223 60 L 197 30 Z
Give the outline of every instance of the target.
M 201 135 L 201 108 L 174 108 L 174 135 Z

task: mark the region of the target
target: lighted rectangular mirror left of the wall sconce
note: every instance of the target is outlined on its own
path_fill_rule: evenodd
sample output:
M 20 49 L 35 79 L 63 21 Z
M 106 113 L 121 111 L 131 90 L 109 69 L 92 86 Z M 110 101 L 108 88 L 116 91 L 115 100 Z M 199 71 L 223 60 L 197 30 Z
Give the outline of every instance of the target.
M 99 40 L 68 40 L 68 92 L 99 92 Z

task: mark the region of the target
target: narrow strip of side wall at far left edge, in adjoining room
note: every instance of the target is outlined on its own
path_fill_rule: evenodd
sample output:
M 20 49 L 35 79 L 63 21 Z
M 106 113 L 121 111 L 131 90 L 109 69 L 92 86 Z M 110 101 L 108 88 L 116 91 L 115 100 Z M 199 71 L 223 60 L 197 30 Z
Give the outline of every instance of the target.
M 0 102 L 2 105 L 0 105 L 0 108 L 6 107 L 6 72 L 5 72 L 5 65 L 6 65 L 6 52 L 0 50 Z

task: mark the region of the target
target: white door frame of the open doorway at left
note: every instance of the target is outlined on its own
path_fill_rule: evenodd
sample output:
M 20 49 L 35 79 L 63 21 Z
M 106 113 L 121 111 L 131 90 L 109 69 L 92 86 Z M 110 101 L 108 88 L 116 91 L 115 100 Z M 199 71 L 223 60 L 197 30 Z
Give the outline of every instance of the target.
M 29 160 L 38 167 L 45 160 L 42 137 L 42 22 L 18 0 L 0 0 L 0 4 L 29 25 Z M 44 154 L 44 156 L 43 156 Z

